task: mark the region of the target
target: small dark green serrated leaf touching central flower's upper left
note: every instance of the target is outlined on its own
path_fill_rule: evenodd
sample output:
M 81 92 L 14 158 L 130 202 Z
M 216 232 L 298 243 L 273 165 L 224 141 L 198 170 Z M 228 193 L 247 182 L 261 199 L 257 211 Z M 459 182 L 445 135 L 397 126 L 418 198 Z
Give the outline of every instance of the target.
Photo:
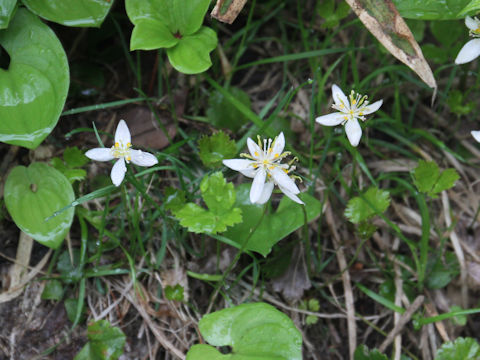
M 211 136 L 202 136 L 198 141 L 199 156 L 205 166 L 215 168 L 222 165 L 222 160 L 231 159 L 237 153 L 235 141 L 223 131 Z

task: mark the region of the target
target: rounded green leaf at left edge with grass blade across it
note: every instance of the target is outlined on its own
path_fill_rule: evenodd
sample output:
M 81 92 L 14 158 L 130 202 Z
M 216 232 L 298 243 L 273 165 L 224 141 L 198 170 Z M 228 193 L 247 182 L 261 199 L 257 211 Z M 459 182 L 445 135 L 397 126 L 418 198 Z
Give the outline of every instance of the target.
M 62 173 L 44 163 L 17 166 L 8 175 L 4 196 L 8 212 L 23 232 L 50 248 L 60 246 L 74 209 L 45 219 L 75 200 L 72 185 Z

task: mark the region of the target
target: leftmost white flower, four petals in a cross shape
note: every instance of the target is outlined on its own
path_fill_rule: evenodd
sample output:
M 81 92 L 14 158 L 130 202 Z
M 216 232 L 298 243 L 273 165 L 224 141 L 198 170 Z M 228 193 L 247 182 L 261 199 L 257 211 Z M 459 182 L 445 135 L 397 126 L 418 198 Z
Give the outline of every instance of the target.
M 85 156 L 92 160 L 97 161 L 110 161 L 113 159 L 118 159 L 117 162 L 113 165 L 112 172 L 110 177 L 115 186 L 119 186 L 125 173 L 127 172 L 127 163 L 134 163 L 135 165 L 140 166 L 152 166 L 158 163 L 157 158 L 141 150 L 133 150 L 131 144 L 130 130 L 128 130 L 127 123 L 124 120 L 120 120 L 115 131 L 115 145 L 111 148 L 95 148 L 88 150 L 85 153 Z

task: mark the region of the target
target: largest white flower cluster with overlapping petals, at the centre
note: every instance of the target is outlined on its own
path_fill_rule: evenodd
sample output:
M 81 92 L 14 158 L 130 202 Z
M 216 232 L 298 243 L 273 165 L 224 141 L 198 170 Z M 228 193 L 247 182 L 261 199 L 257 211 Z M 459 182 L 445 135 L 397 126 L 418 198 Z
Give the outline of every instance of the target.
M 281 164 L 282 159 L 290 155 L 290 152 L 283 152 L 285 147 L 285 137 L 280 133 L 272 142 L 272 139 L 260 141 L 258 145 L 247 139 L 249 154 L 240 156 L 247 159 L 229 159 L 223 160 L 223 164 L 232 170 L 241 172 L 243 175 L 253 178 L 250 189 L 250 201 L 254 204 L 264 204 L 270 199 L 273 187 L 278 185 L 279 189 L 290 199 L 299 204 L 304 204 L 297 194 L 300 193 L 295 180 L 288 174 L 295 170 L 295 166 L 290 164 Z

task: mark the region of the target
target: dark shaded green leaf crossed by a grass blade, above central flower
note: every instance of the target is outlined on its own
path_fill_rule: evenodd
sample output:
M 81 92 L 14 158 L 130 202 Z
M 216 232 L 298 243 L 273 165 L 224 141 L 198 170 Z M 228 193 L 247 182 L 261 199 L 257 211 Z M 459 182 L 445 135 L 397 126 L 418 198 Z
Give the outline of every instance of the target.
M 251 108 L 250 97 L 243 90 L 236 87 L 225 89 L 236 100 Z M 215 91 L 208 99 L 207 119 L 217 128 L 226 128 L 234 132 L 238 131 L 249 119 L 238 110 L 232 102 L 228 101 L 223 93 Z

